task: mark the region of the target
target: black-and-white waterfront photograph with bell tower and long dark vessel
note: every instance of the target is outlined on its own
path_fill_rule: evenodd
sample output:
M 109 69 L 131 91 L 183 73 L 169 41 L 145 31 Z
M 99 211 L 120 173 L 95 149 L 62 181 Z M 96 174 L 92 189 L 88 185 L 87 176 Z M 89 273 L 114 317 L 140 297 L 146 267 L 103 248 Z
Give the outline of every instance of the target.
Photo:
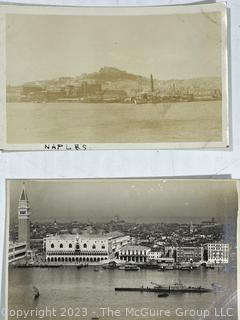
M 236 181 L 8 180 L 8 319 L 237 320 Z

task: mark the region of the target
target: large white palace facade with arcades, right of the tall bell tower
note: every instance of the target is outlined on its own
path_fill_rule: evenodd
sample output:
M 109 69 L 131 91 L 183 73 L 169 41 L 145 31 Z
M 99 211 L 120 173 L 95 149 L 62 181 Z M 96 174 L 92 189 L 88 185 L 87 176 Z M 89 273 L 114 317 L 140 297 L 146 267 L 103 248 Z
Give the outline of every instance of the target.
M 109 240 L 98 235 L 61 234 L 44 239 L 46 262 L 96 264 L 109 258 Z

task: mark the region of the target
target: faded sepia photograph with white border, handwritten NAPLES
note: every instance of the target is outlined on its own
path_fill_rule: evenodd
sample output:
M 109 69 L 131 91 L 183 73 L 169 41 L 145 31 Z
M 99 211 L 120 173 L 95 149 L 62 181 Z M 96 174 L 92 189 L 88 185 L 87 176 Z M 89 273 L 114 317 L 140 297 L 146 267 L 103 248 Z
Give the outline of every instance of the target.
M 224 4 L 0 10 L 3 148 L 229 147 Z

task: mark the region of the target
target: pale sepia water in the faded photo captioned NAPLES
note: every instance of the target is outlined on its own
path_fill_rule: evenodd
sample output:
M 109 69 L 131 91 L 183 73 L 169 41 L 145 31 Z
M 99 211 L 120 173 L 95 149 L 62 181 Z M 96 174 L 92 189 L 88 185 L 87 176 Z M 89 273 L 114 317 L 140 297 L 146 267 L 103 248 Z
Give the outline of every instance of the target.
M 221 141 L 221 101 L 8 103 L 9 143 Z

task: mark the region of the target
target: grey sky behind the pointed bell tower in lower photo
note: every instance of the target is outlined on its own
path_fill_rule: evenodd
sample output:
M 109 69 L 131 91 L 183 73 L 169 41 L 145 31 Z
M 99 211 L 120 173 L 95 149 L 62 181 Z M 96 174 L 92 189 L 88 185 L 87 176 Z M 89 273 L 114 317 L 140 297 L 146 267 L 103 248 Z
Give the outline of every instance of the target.
M 10 182 L 10 215 L 17 219 L 22 180 Z M 234 181 L 89 179 L 26 180 L 32 221 L 219 222 L 237 217 Z M 235 220 L 236 221 L 236 220 Z

